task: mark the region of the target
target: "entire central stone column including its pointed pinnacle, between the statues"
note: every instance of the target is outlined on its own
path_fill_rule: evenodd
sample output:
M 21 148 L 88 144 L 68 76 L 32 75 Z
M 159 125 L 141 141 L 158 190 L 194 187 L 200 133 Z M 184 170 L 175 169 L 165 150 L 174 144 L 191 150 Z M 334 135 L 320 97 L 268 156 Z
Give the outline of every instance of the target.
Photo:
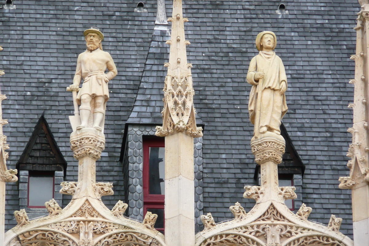
M 201 137 L 196 127 L 192 64 L 187 63 L 182 0 L 173 1 L 168 74 L 164 84 L 163 126 L 165 136 L 165 242 L 168 246 L 191 246 L 195 240 L 193 138 Z

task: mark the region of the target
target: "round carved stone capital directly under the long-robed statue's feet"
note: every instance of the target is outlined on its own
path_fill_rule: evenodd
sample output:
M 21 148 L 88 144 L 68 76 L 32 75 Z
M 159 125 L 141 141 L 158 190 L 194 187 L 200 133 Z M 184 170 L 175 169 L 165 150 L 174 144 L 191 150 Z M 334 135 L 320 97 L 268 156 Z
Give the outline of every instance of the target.
M 264 137 L 252 140 L 251 142 L 251 151 L 255 155 L 255 162 L 258 164 L 267 161 L 272 161 L 277 164 L 281 163 L 285 147 L 286 145 L 283 137 L 282 139 Z

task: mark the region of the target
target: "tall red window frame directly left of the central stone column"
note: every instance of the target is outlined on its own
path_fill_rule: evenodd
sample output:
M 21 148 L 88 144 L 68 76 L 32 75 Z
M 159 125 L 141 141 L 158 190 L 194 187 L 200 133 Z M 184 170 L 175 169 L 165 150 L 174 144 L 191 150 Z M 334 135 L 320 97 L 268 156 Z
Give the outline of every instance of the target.
M 150 147 L 165 147 L 164 138 L 154 136 L 144 136 L 142 138 L 143 150 L 144 150 L 144 166 L 142 170 L 142 185 L 144 190 L 144 216 L 147 213 L 147 209 L 164 209 L 165 195 L 149 194 L 149 148 Z M 164 227 L 156 228 L 156 230 L 164 233 L 165 228 L 165 214 L 164 215 Z

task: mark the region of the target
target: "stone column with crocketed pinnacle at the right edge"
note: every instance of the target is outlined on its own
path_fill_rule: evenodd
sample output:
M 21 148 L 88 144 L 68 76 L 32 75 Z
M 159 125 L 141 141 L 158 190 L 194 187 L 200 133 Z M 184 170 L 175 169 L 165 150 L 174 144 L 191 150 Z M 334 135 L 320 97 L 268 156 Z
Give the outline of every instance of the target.
M 352 144 L 347 156 L 351 157 L 347 166 L 348 177 L 340 177 L 341 189 L 352 190 L 352 219 L 355 246 L 366 246 L 369 242 L 369 166 L 368 166 L 368 95 L 369 95 L 369 4 L 364 4 L 358 13 L 356 30 L 354 102 L 348 105 L 354 111 L 353 125 L 348 129 L 352 134 Z

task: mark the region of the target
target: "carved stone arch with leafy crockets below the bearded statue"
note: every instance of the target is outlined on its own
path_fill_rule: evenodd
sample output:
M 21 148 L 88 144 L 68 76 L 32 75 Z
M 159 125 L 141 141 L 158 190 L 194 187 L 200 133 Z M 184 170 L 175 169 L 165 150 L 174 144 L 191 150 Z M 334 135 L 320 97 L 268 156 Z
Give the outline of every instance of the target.
M 63 194 L 75 194 L 78 183 L 63 182 Z M 112 185 L 96 183 L 96 197 L 110 194 Z M 6 246 L 164 246 L 155 230 L 157 215 L 147 213 L 142 223 L 124 217 L 128 205 L 118 201 L 108 210 L 103 202 L 89 197 L 72 199 L 64 209 L 52 199 L 45 203 L 49 215 L 30 221 L 24 209 L 15 211 L 17 226 L 6 233 Z

